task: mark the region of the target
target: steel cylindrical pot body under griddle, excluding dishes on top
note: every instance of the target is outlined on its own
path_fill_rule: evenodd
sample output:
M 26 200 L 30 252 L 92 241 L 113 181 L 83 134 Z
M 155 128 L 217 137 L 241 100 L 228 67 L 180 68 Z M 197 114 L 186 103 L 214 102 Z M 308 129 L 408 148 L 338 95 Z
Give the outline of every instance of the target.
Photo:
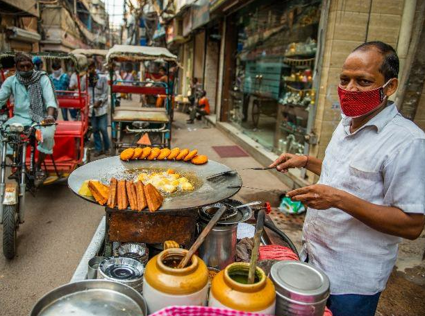
M 200 231 L 206 227 L 201 222 Z M 223 270 L 235 261 L 238 225 L 215 226 L 199 247 L 199 256 L 208 267 Z

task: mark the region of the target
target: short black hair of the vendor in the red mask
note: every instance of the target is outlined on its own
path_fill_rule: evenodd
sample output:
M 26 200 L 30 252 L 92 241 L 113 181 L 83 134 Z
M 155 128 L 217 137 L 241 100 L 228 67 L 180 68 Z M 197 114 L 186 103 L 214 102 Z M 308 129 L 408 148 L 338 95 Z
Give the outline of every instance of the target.
M 385 77 L 385 82 L 391 78 L 399 77 L 400 62 L 399 56 L 391 45 L 381 41 L 365 42 L 356 47 L 353 51 L 368 51 L 369 49 L 376 49 L 383 55 L 383 62 L 379 71 Z

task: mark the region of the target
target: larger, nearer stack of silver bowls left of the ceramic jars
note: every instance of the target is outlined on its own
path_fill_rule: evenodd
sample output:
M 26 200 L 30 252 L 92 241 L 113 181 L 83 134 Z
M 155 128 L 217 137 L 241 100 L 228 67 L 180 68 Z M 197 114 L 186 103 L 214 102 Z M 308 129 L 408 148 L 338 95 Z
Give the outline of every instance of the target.
M 144 265 L 133 258 L 110 257 L 99 264 L 97 279 L 115 281 L 142 293 Z

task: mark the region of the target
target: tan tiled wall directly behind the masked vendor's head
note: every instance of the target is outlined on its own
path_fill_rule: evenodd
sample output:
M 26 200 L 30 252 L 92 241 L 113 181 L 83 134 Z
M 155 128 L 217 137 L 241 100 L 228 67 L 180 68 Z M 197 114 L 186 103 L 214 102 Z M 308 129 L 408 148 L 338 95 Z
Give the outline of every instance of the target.
M 404 3 L 403 0 L 372 0 L 369 15 L 369 1 L 330 2 L 314 125 L 319 135 L 319 144 L 310 150 L 310 155 L 319 158 L 324 157 L 326 146 L 341 118 L 337 87 L 345 58 L 365 40 L 381 40 L 397 48 Z

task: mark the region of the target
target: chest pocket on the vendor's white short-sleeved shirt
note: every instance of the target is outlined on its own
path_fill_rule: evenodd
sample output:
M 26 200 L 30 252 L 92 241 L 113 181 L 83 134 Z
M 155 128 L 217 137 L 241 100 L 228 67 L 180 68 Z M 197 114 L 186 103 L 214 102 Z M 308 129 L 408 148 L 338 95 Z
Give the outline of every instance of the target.
M 383 177 L 380 170 L 375 170 L 371 166 L 352 162 L 349 164 L 349 186 L 356 193 L 360 193 L 358 198 L 372 198 L 377 191 L 382 188 Z

